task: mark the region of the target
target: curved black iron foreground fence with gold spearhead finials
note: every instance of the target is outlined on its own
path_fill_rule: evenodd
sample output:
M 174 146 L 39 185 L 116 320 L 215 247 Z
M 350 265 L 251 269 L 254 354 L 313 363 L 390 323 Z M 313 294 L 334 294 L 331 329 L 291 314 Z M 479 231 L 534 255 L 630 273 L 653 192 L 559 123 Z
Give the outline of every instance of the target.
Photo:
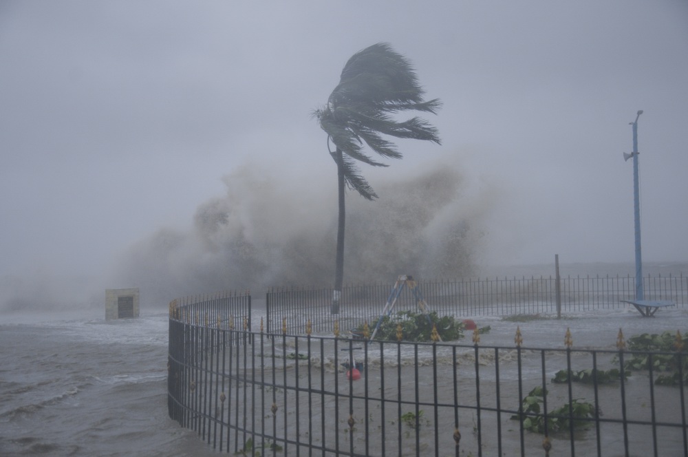
M 520 328 L 502 346 L 368 341 L 338 320 L 252 331 L 248 296 L 173 301 L 169 321 L 169 414 L 232 455 L 688 457 L 680 332 L 652 351 L 621 330 L 615 349 L 525 346 Z

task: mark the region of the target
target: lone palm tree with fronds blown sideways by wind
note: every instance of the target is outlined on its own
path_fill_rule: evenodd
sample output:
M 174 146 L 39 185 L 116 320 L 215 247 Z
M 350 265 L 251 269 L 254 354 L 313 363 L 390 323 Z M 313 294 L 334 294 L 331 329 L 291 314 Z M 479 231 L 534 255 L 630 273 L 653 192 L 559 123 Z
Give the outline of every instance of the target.
M 354 189 L 367 200 L 378 197 L 361 176 L 355 161 L 387 167 L 364 153 L 364 143 L 385 158 L 402 158 L 394 143 L 385 140 L 383 135 L 440 144 L 437 129 L 427 120 L 413 117 L 398 121 L 393 116 L 407 110 L 436 114 L 440 100 L 425 101 L 423 94 L 411 63 L 388 43 L 377 43 L 356 52 L 347 61 L 327 105 L 314 111 L 314 117 L 327 133 L 327 149 L 337 164 L 339 220 L 332 314 L 339 312 L 344 277 L 345 190 Z

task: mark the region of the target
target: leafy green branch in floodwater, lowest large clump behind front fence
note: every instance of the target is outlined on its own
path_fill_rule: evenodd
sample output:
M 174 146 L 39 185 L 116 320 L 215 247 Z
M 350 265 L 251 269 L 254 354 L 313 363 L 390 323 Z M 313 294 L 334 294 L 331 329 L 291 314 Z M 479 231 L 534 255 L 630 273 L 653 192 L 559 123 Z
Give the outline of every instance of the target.
M 542 412 L 544 403 L 544 396 L 547 395 L 547 390 L 542 387 L 535 387 L 531 390 L 526 398 L 523 399 L 523 413 L 514 414 L 511 419 L 523 423 L 524 429 L 535 432 L 545 432 L 545 416 Z M 592 403 L 579 401 L 574 398 L 571 403 L 562 405 L 551 410 L 547 414 L 547 430 L 549 433 L 555 433 L 559 430 L 568 430 L 570 428 L 570 420 L 573 419 L 573 426 L 577 428 L 584 428 L 590 424 L 590 419 L 595 416 L 595 407 Z

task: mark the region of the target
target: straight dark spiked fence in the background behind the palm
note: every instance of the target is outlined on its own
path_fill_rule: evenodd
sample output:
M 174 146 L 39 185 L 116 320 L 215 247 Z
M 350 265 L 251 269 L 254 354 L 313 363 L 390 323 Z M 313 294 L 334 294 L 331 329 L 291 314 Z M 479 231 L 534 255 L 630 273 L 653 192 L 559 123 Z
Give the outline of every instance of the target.
M 651 276 L 643 278 L 645 299 L 671 300 L 688 304 L 688 277 Z M 630 276 L 586 276 L 559 279 L 562 312 L 627 307 L 621 300 L 635 297 L 635 278 Z M 418 288 L 439 315 L 485 316 L 548 314 L 557 312 L 557 278 L 521 277 L 418 281 Z M 376 321 L 385 306 L 390 284 L 346 286 L 336 319 L 342 328 L 355 328 L 364 321 Z M 314 332 L 332 332 L 330 304 L 333 290 L 321 288 L 272 288 L 266 294 L 267 332 L 305 333 L 310 321 Z M 405 291 L 395 310 L 416 310 L 413 295 Z

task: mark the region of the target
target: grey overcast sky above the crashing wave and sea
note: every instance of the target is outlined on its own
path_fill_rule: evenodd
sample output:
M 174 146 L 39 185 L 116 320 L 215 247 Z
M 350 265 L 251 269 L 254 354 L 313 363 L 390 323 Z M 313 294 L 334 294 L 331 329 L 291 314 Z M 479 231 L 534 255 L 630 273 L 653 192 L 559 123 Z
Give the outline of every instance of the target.
M 444 107 L 373 187 L 452 162 L 500 195 L 483 262 L 632 262 L 643 109 L 643 259 L 688 261 L 685 0 L 2 0 L 0 275 L 107 270 L 247 164 L 333 187 L 311 113 L 380 41 Z

